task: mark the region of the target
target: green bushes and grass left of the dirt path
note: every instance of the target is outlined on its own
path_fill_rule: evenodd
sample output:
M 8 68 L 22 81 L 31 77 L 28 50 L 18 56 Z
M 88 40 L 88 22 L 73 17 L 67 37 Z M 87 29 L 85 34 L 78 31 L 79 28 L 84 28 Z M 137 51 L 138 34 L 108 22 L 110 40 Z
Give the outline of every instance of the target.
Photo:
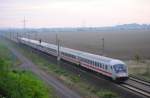
M 20 61 L 0 39 L 0 98 L 54 98 L 53 89 L 37 76 L 14 70 L 18 64 Z

